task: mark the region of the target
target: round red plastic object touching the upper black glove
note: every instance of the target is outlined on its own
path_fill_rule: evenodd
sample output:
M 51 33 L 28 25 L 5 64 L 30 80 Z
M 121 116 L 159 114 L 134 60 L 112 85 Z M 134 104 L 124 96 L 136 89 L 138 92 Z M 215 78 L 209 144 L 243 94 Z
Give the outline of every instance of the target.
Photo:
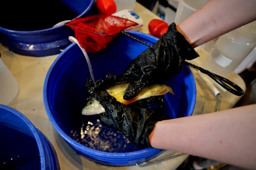
M 163 20 L 153 19 L 148 24 L 149 33 L 152 36 L 161 38 L 161 36 L 167 32 L 169 24 Z

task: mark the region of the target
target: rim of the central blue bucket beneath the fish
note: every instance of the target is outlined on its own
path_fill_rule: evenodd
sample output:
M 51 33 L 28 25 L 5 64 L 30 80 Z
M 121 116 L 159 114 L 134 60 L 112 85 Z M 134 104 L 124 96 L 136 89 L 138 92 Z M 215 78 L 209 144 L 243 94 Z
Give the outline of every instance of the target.
M 149 34 L 145 34 L 145 33 L 142 33 L 142 32 L 137 32 L 137 31 L 125 31 L 127 33 L 130 33 L 131 35 L 132 34 L 135 34 L 137 36 L 142 36 L 143 38 L 150 38 L 152 40 L 159 40 L 158 38 L 152 36 L 152 35 L 149 35 Z M 90 154 L 89 156 L 102 156 L 102 157 L 108 157 L 108 156 L 112 156 L 112 158 L 121 158 L 121 157 L 124 157 L 124 156 L 142 156 L 142 155 L 147 155 L 149 153 L 152 153 L 152 152 L 157 152 L 157 153 L 161 153 L 162 151 L 164 151 L 164 149 L 158 149 L 158 148 L 145 148 L 145 149 L 142 149 L 142 150 L 138 150 L 138 151 L 133 151 L 133 152 L 122 152 L 122 153 L 113 153 L 113 152 L 104 152 L 104 151 L 99 151 L 99 150 L 96 150 L 96 149 L 92 149 L 92 148 L 89 148 L 87 146 L 84 146 L 78 142 L 76 142 L 75 140 L 73 140 L 69 135 L 67 135 L 66 133 L 64 133 L 64 131 L 59 127 L 58 123 L 55 121 L 55 119 L 53 118 L 52 116 L 52 113 L 51 113 L 51 110 L 50 110 L 50 107 L 49 107 L 49 103 L 48 103 L 48 100 L 47 100 L 47 89 L 48 89 L 48 81 L 49 81 L 49 77 L 51 76 L 51 72 L 55 66 L 56 63 L 59 62 L 59 60 L 61 60 L 61 57 L 62 55 L 65 54 L 66 51 L 68 51 L 69 49 L 73 48 L 75 45 L 77 45 L 75 42 L 73 42 L 72 44 L 70 44 L 68 47 L 66 47 L 58 56 L 57 58 L 53 61 L 52 65 L 50 66 L 47 74 L 46 74 L 46 77 L 45 77 L 45 81 L 44 81 L 44 86 L 43 86 L 43 101 L 44 101 L 44 105 L 45 105 L 45 109 L 46 109 L 46 113 L 49 117 L 49 120 L 50 122 L 52 123 L 53 127 L 58 131 L 58 133 L 66 140 L 66 142 L 68 144 L 71 145 L 71 147 L 74 147 L 75 149 L 77 148 L 80 148 L 81 150 L 79 150 L 80 152 L 83 152 L 86 151 L 87 153 L 86 154 Z M 193 83 L 193 86 L 196 87 L 196 84 L 195 84 L 195 79 L 194 79 L 194 76 L 192 74 L 192 71 L 191 69 L 189 68 L 189 66 L 187 66 L 189 72 L 191 73 L 192 75 L 192 83 Z M 194 106 L 195 106 L 195 101 L 196 101 L 196 88 L 194 88 L 193 90 L 193 103 L 194 103 Z M 193 110 L 194 110 L 194 106 L 191 106 L 190 110 L 189 110 L 189 116 L 192 115 L 193 113 Z M 72 146 L 73 145 L 73 146 Z M 156 155 L 157 156 L 157 155 Z

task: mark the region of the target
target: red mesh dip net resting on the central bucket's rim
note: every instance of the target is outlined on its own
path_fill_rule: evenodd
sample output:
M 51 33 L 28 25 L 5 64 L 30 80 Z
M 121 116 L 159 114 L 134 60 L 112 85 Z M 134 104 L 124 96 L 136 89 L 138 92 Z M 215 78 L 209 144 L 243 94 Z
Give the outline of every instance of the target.
M 122 30 L 138 24 L 124 18 L 98 14 L 75 18 L 65 25 L 75 31 L 77 41 L 86 52 L 95 53 L 106 48 Z

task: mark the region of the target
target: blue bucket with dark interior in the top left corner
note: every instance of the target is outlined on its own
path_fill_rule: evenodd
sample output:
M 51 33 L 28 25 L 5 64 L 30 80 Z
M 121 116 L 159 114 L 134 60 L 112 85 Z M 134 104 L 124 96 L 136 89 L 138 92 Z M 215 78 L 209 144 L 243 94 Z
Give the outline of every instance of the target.
M 6 10 L 0 11 L 0 42 L 17 54 L 41 57 L 59 54 L 71 44 L 68 36 L 75 36 L 64 24 L 55 25 L 92 15 L 95 3 L 94 0 L 45 0 L 38 5 L 28 0 L 3 1 L 1 6 Z

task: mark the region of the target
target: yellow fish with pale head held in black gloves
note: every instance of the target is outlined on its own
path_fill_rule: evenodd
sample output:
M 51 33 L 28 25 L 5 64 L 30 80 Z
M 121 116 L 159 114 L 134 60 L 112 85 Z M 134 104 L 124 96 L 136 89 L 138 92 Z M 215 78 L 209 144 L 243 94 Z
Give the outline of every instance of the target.
M 151 96 L 164 95 L 168 92 L 174 95 L 174 92 L 170 86 L 166 84 L 153 84 L 153 85 L 142 88 L 140 93 L 135 98 L 130 100 L 124 100 L 123 99 L 124 91 L 129 86 L 129 84 L 130 83 L 116 84 L 106 89 L 106 91 L 111 96 L 113 96 L 118 102 L 123 103 L 125 105 L 132 104 L 136 101 L 139 101 L 141 99 L 145 99 Z M 83 115 L 95 115 L 95 114 L 100 114 L 104 112 L 105 112 L 105 109 L 102 107 L 100 102 L 97 101 L 95 98 L 89 99 L 85 107 L 82 109 Z

